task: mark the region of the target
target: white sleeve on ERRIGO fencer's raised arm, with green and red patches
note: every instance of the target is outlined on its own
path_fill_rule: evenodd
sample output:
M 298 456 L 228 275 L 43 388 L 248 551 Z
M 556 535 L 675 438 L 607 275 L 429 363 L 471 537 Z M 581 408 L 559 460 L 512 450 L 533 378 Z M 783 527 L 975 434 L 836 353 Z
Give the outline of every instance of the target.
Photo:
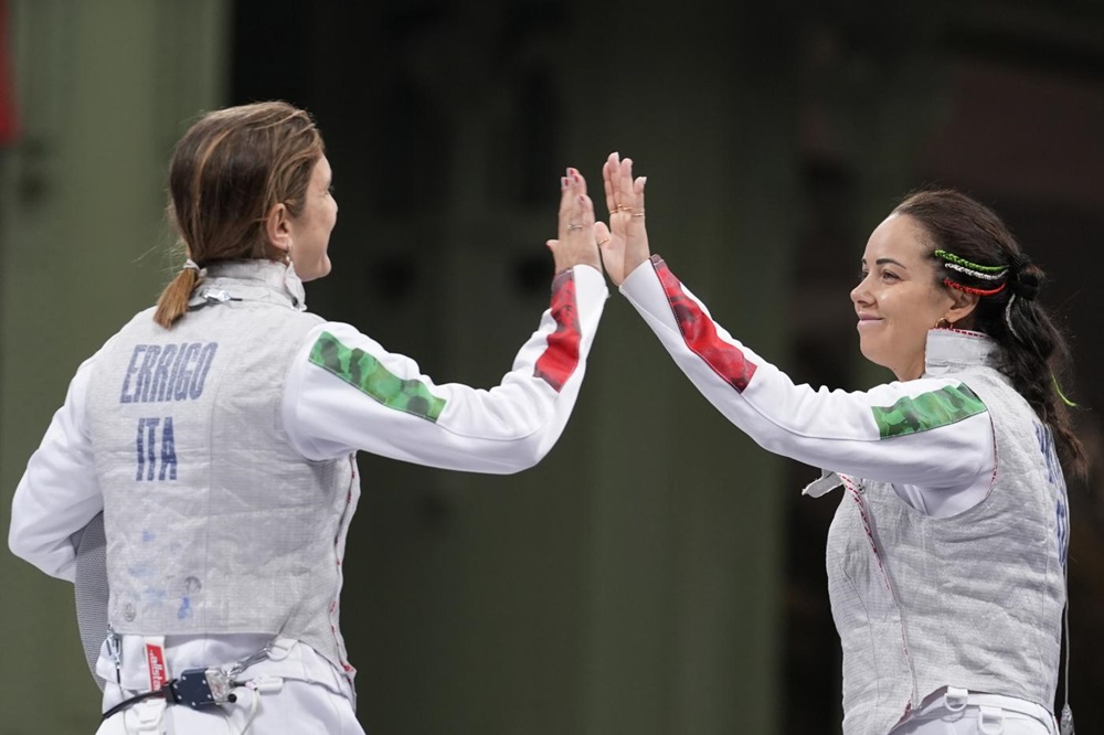
M 532 467 L 571 415 L 607 296 L 595 268 L 561 273 L 537 331 L 490 390 L 437 384 L 355 328 L 320 324 L 288 372 L 285 428 L 310 459 L 362 449 L 456 470 Z

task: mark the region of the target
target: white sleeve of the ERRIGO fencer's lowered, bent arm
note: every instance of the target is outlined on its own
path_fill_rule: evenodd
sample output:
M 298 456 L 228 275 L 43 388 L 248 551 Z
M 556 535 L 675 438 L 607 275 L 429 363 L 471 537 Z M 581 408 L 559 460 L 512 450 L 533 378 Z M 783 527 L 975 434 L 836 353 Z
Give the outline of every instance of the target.
M 95 360 L 93 355 L 77 369 L 65 404 L 54 414 L 42 444 L 28 461 L 11 502 L 8 530 L 13 554 L 70 582 L 76 568 L 71 537 L 104 509 L 85 422 L 85 397 Z

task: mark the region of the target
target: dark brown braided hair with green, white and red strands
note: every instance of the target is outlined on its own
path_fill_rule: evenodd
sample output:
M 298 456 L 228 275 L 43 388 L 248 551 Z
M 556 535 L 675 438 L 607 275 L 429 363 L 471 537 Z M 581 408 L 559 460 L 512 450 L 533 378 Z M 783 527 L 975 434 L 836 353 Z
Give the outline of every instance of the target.
M 1083 477 L 1085 451 L 1058 388 L 1069 368 L 1069 345 L 1036 300 L 1045 280 L 1042 269 L 992 210 L 962 192 L 913 192 L 893 211 L 912 217 L 927 235 L 942 284 L 979 295 L 959 326 L 997 342 L 1000 371 L 1050 427 L 1066 470 Z

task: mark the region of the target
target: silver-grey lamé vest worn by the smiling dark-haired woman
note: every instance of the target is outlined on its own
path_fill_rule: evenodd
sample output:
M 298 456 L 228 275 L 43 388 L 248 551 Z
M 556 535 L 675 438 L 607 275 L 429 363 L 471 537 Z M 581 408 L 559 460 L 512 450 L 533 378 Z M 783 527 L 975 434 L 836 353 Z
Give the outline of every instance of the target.
M 1053 710 L 1069 539 L 1062 470 L 1050 432 L 1002 375 L 970 366 L 954 377 L 992 420 L 997 470 L 985 500 L 932 518 L 888 483 L 842 478 L 827 565 L 848 735 L 888 733 L 947 685 Z

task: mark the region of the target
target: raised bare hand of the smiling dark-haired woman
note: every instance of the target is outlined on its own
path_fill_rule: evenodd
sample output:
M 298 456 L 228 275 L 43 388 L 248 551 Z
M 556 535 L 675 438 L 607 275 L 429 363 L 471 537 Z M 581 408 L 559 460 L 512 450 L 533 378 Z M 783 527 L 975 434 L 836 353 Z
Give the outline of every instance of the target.
M 602 166 L 602 180 L 609 209 L 609 226 L 599 222 L 594 234 L 602 248 L 602 265 L 614 286 L 649 257 L 648 231 L 644 225 L 644 184 L 646 177 L 633 178 L 633 159 L 622 160 L 617 153 Z

